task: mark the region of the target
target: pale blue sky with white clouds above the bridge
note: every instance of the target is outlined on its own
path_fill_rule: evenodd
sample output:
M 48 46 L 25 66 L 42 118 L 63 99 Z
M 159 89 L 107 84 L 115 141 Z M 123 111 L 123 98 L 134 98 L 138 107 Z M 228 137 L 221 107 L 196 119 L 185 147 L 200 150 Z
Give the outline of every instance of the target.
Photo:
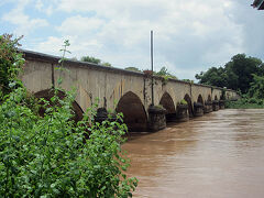
M 1 0 L 0 33 L 24 35 L 22 48 L 95 56 L 116 67 L 154 67 L 178 78 L 221 66 L 238 53 L 264 59 L 264 11 L 253 0 Z

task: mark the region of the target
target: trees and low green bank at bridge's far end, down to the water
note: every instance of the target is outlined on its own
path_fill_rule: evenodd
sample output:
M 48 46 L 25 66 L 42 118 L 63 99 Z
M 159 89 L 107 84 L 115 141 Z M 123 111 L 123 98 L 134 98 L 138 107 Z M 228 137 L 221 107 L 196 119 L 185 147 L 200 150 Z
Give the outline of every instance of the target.
M 227 108 L 264 108 L 264 63 L 238 54 L 223 67 L 211 67 L 196 75 L 199 82 L 238 90 L 241 99 L 227 101 Z

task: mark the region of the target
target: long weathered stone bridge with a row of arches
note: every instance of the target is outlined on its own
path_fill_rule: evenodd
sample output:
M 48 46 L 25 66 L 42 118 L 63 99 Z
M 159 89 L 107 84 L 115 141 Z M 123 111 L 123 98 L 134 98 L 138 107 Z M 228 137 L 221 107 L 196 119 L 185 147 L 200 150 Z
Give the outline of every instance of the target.
M 160 130 L 166 127 L 166 120 L 202 116 L 218 110 L 220 100 L 239 97 L 233 90 L 154 77 L 153 108 L 152 81 L 146 74 L 76 61 L 65 61 L 65 69 L 58 70 L 59 57 L 31 51 L 22 53 L 25 65 L 21 79 L 35 96 L 48 97 L 51 88 L 62 77 L 62 88 L 76 88 L 74 108 L 77 119 L 99 98 L 99 107 L 123 112 L 124 122 L 132 131 Z

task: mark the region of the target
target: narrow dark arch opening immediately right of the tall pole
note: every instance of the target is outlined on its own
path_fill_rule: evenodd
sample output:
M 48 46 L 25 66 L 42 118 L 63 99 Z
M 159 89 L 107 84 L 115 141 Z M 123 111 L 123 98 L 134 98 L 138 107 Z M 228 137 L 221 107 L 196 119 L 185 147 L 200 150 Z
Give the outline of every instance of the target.
M 176 119 L 176 109 L 174 106 L 173 98 L 165 92 L 160 101 L 160 105 L 162 105 L 166 109 L 166 121 L 172 122 Z

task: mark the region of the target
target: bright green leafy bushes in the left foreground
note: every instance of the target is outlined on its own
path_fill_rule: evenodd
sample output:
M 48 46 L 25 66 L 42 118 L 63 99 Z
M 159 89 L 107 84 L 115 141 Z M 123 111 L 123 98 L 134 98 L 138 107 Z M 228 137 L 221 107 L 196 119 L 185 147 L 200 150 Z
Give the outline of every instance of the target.
M 67 92 L 62 99 L 59 89 L 51 101 L 42 99 L 45 114 L 40 117 L 38 101 L 18 79 L 24 63 L 18 40 L 2 35 L 0 47 L 0 195 L 131 197 L 138 180 L 124 174 L 129 160 L 121 151 L 122 117 L 95 123 L 91 108 L 75 123 L 74 96 Z

